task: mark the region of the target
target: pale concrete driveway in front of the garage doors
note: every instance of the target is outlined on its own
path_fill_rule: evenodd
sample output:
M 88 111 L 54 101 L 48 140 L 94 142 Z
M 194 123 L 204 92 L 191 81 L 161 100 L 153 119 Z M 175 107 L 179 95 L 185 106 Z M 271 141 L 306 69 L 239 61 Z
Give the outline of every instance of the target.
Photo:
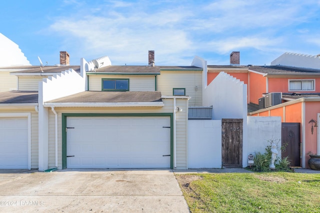
M 172 170 L 0 170 L 0 212 L 189 210 Z

